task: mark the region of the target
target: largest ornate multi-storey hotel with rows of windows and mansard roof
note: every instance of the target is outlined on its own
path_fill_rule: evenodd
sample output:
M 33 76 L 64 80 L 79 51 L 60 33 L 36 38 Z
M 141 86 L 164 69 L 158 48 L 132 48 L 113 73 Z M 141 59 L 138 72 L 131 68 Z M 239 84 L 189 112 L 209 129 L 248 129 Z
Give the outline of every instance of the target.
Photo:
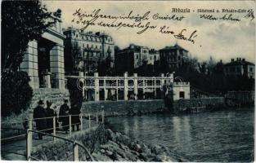
M 105 59 L 110 59 L 110 67 L 114 67 L 115 50 L 113 38 L 105 33 L 85 32 L 79 29 L 65 29 L 65 59 L 70 59 L 74 55 L 70 47 L 75 44 L 79 47 L 81 55 L 75 57 L 75 64 L 81 65 L 83 71 L 88 73 L 97 72 L 99 63 Z M 78 58 L 79 57 L 79 58 Z M 72 71 L 72 66 L 66 62 L 66 70 Z

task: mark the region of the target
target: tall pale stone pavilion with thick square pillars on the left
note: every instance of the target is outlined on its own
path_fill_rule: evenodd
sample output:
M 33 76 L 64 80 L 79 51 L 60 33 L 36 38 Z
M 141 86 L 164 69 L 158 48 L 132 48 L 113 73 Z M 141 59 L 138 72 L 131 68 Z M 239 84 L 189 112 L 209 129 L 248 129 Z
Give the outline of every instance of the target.
M 29 74 L 33 89 L 65 89 L 64 39 L 61 20 L 48 28 L 38 40 L 29 42 L 20 70 Z

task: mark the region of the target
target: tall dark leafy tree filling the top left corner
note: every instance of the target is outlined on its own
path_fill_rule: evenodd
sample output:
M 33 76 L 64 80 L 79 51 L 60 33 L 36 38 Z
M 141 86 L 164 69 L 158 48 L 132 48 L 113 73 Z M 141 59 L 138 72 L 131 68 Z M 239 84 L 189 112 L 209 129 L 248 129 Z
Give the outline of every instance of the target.
M 53 15 L 61 17 L 61 10 Z M 38 40 L 42 33 L 56 23 L 56 17 L 36 1 L 2 2 L 2 70 L 17 70 L 29 41 Z

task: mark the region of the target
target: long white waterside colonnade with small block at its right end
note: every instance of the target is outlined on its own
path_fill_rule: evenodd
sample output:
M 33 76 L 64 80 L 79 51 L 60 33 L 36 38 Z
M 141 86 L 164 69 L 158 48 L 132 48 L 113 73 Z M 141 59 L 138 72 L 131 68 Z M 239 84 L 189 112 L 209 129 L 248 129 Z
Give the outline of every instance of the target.
M 190 99 L 190 83 L 174 82 L 173 73 L 159 77 L 138 77 L 137 73 L 120 77 L 78 76 L 83 86 L 83 97 L 88 101 L 99 100 L 137 100 L 137 99 L 164 99 L 173 95 L 173 100 Z M 83 79 L 83 80 L 82 80 Z

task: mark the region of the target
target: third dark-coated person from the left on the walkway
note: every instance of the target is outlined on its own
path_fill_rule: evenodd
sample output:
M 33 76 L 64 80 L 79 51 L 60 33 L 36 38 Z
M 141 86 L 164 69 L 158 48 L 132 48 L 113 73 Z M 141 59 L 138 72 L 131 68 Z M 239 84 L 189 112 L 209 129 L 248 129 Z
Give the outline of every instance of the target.
M 68 106 L 68 99 L 64 100 L 64 104 L 61 105 L 60 112 L 59 112 L 59 121 L 62 122 L 62 128 L 67 133 L 70 124 L 70 107 Z

